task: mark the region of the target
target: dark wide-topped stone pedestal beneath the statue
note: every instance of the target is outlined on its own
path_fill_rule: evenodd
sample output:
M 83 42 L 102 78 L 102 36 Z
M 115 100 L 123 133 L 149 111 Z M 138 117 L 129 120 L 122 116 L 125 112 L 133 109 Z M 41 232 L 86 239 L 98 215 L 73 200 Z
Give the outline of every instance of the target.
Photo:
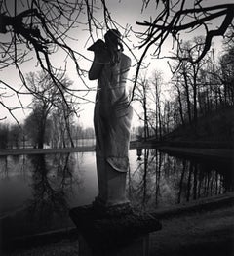
M 161 229 L 159 221 L 128 207 L 125 213 L 118 206 L 105 212 L 97 209 L 88 205 L 70 210 L 81 235 L 81 255 L 147 255 L 148 234 Z

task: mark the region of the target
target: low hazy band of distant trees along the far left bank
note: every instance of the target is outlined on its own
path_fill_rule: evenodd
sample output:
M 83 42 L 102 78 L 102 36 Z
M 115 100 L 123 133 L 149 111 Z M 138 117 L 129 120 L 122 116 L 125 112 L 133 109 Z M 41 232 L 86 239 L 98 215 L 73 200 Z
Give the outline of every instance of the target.
M 0 123 L 0 149 L 68 148 L 72 145 L 78 147 L 95 144 L 95 133 L 92 127 L 84 128 L 73 124 L 70 127 L 71 137 L 69 137 L 64 128 L 59 126 L 59 122 L 52 124 L 53 119 L 51 117 L 46 122 L 43 144 L 42 138 L 37 136 L 37 128 L 35 126 L 30 127 L 27 119 L 20 126 L 18 124 Z M 55 129 L 55 127 L 57 128 Z M 92 140 L 87 143 L 85 142 L 86 139 Z

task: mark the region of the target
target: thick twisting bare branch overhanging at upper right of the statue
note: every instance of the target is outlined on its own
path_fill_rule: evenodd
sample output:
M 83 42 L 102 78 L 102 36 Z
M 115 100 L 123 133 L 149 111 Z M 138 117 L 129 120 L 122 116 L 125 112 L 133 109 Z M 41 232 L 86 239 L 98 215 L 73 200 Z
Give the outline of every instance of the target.
M 143 6 L 146 8 L 149 2 L 150 1 L 143 0 Z M 186 2 L 186 0 L 177 0 L 175 4 L 174 1 L 161 0 L 164 7 L 154 21 L 137 21 L 137 24 L 142 27 L 146 27 L 146 30 L 138 35 L 138 38 L 141 39 L 142 42 L 139 48 L 144 48 L 144 50 L 137 64 L 132 100 L 137 86 L 137 77 L 140 66 L 146 56 L 146 53 L 152 46 L 155 47 L 153 55 L 159 57 L 161 48 L 169 35 L 172 35 L 173 38 L 178 41 L 179 32 L 192 31 L 200 26 L 204 26 L 207 32 L 204 48 L 197 59 L 193 61 L 194 63 L 198 63 L 210 50 L 213 38 L 215 36 L 224 35 L 228 27 L 232 24 L 234 17 L 234 4 L 203 7 L 203 0 L 194 0 L 194 8 L 187 8 L 187 4 L 189 4 L 188 2 L 189 1 Z M 157 1 L 157 7 L 159 8 L 159 1 Z M 224 18 L 220 25 L 214 30 L 209 30 L 209 22 L 215 21 L 219 18 Z

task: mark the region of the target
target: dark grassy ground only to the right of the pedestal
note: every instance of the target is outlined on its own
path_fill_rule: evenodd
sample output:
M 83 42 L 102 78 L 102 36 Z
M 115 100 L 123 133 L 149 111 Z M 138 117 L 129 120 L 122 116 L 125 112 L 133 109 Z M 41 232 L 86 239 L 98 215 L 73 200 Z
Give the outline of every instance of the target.
M 234 207 L 162 222 L 151 235 L 150 255 L 234 255 Z

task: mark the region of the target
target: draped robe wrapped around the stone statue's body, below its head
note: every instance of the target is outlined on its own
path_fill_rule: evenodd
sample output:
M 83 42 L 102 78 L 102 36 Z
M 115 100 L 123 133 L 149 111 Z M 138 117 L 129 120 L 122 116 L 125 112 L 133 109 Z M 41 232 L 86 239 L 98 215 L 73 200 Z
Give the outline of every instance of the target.
M 96 151 L 114 170 L 127 172 L 133 109 L 126 83 L 131 59 L 120 53 L 119 63 L 111 64 L 108 56 L 105 60 L 98 77 L 94 116 Z

